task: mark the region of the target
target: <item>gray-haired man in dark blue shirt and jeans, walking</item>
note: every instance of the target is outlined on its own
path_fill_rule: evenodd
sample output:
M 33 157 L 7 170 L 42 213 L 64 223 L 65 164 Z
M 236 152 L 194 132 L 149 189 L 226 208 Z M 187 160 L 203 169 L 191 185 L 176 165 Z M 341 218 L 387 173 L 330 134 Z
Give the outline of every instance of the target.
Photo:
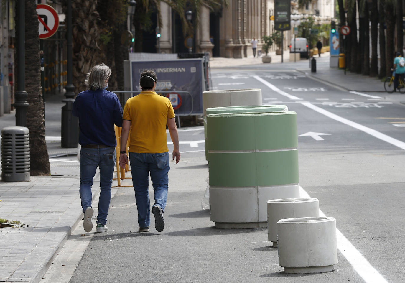
M 122 126 L 122 107 L 118 97 L 107 91 L 111 75 L 109 66 L 99 64 L 87 74 L 87 90 L 76 97 L 72 114 L 79 117 L 81 207 L 84 213 L 83 228 L 93 229 L 92 185 L 97 167 L 100 170 L 100 198 L 96 232 L 108 231 L 107 214 L 111 200 L 111 182 L 115 167 L 114 124 Z

